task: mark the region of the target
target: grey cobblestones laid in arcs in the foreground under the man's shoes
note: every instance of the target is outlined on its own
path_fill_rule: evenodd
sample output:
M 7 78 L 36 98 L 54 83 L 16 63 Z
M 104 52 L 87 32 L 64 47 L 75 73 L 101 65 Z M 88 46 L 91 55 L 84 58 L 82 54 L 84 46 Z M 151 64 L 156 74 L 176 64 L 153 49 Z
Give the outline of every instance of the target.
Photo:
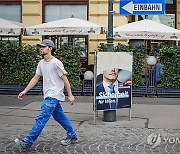
M 19 153 L 13 140 L 23 138 L 30 125 L 1 125 L 0 153 Z M 46 126 L 28 153 L 31 154 L 180 154 L 180 130 L 122 128 L 118 124 L 79 124 L 78 144 L 60 145 L 65 132 Z M 160 136 L 158 136 L 160 135 Z

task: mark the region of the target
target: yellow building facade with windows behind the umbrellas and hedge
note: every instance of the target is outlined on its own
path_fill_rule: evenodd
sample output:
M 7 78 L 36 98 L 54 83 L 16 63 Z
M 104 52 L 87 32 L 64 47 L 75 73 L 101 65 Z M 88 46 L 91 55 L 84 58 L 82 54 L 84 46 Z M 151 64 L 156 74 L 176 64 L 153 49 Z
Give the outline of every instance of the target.
M 148 18 L 168 26 L 180 29 L 180 0 L 166 0 L 166 14 L 154 16 L 124 16 L 119 15 L 119 2 L 114 1 L 113 26 Z M 15 20 L 26 25 L 36 25 L 53 20 L 75 16 L 97 23 L 104 27 L 108 24 L 108 0 L 0 0 L 0 18 Z M 44 36 L 43 36 L 44 37 Z M 84 48 L 83 67 L 94 63 L 94 52 L 100 43 L 106 43 L 106 34 L 89 36 L 46 36 L 51 37 L 59 47 L 63 43 L 70 45 L 80 43 Z M 0 36 L 0 40 L 17 40 Z M 20 41 L 27 44 L 37 44 L 42 36 L 21 36 Z M 128 40 L 114 40 L 127 44 Z

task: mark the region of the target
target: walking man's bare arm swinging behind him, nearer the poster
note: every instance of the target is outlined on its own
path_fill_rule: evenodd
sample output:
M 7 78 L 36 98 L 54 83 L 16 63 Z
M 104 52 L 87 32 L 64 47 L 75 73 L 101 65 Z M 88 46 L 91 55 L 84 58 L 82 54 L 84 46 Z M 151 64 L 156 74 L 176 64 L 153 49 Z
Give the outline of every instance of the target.
M 66 91 L 67 91 L 67 93 L 68 93 L 69 103 L 70 103 L 71 105 L 73 105 L 73 104 L 74 104 L 74 101 L 75 101 L 75 98 L 74 98 L 74 96 L 73 96 L 73 94 L 72 94 L 71 86 L 70 86 L 70 83 L 69 83 L 69 81 L 68 81 L 68 78 L 67 78 L 67 76 L 66 76 L 65 74 L 63 74 L 63 75 L 61 76 L 61 79 L 64 81 L 64 86 L 65 86 Z

